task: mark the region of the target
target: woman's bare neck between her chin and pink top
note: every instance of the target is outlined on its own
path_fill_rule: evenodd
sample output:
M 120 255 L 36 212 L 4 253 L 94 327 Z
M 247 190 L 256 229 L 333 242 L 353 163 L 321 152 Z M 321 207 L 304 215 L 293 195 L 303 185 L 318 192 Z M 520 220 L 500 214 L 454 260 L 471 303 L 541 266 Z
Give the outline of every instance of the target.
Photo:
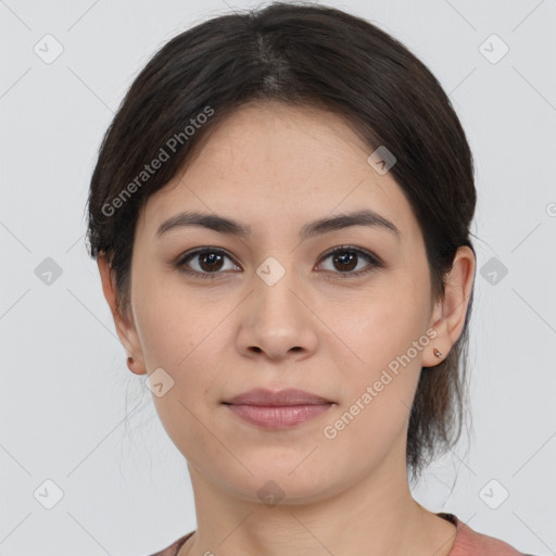
M 383 467 L 317 501 L 270 506 L 218 488 L 190 466 L 198 529 L 178 556 L 448 555 L 455 526 L 412 497 L 405 466 Z

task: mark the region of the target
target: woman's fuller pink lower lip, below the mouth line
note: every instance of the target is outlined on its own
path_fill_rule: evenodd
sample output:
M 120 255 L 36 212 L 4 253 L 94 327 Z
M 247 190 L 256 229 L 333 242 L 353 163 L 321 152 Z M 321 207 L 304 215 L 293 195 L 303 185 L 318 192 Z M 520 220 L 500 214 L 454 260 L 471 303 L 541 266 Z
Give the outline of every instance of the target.
M 267 429 L 287 429 L 325 413 L 332 404 L 320 405 L 228 405 L 238 417 Z

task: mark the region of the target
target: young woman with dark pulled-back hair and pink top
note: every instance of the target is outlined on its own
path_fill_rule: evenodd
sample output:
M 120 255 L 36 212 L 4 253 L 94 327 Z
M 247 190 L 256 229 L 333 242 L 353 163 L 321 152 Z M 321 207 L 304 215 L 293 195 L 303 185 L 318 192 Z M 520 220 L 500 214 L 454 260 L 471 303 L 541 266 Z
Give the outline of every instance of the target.
M 438 80 L 361 18 L 275 3 L 154 55 L 88 239 L 191 475 L 159 555 L 521 554 L 408 484 L 462 428 L 475 205 Z

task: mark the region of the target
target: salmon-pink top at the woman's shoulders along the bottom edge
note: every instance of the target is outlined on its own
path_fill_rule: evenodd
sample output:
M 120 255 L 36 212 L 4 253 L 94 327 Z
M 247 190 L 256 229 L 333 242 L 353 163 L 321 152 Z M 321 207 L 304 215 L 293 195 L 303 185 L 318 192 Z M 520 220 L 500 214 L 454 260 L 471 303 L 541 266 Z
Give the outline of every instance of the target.
M 448 556 L 532 556 L 516 551 L 516 548 L 504 541 L 473 531 L 453 514 L 441 513 L 437 515 L 454 523 L 457 528 L 456 540 Z M 176 556 L 179 548 L 193 533 L 194 531 L 191 531 L 175 541 L 167 548 L 151 556 Z

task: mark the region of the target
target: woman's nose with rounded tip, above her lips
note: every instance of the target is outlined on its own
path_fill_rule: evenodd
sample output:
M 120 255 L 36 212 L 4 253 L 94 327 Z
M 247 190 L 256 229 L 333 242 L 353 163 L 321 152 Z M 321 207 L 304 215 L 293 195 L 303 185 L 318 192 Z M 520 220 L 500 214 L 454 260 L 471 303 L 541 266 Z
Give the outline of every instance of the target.
M 319 320 L 303 292 L 291 269 L 274 285 L 254 276 L 253 291 L 240 307 L 240 353 L 273 361 L 300 361 L 314 353 Z

